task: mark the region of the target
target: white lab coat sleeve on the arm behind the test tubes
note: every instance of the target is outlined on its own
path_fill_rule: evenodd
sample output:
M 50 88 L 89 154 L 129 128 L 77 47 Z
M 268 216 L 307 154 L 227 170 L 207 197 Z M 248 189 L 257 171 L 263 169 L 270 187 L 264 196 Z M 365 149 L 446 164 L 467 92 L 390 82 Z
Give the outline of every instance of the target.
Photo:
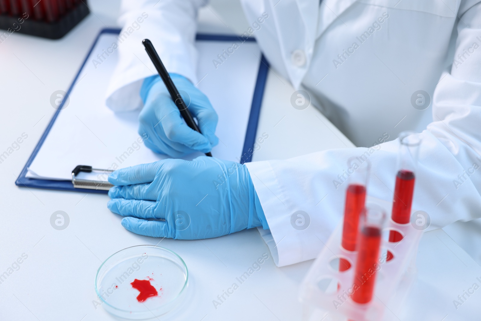
M 440 77 L 433 122 L 421 133 L 413 210 L 428 213 L 430 230 L 481 216 L 481 5 L 463 2 L 458 16 L 455 60 Z M 276 264 L 315 258 L 341 222 L 349 157 L 371 161 L 368 194 L 392 201 L 398 145 L 394 140 L 247 164 Z M 294 228 L 296 211 L 307 214 L 304 230 Z

